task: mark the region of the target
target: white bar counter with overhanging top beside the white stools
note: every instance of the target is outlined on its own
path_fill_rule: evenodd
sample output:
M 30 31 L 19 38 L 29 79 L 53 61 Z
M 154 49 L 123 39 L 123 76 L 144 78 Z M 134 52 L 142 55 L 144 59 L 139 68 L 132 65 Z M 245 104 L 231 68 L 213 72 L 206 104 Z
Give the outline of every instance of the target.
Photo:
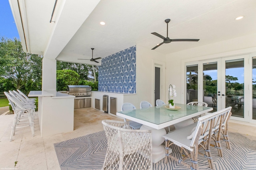
M 38 97 L 38 120 L 41 137 L 74 130 L 75 96 L 46 91 L 30 91 L 28 96 Z

